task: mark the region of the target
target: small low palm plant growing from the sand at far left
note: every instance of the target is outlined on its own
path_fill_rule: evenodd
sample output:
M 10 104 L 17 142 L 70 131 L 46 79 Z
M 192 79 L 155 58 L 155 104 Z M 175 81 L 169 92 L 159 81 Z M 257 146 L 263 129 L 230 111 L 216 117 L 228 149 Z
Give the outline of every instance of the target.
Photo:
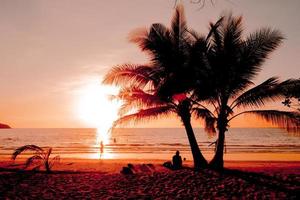
M 46 172 L 50 173 L 52 166 L 59 160 L 59 156 L 55 156 L 50 160 L 52 148 L 47 148 L 45 150 L 36 145 L 24 145 L 17 148 L 12 154 L 12 160 L 15 160 L 17 156 L 24 151 L 33 151 L 33 155 L 25 162 L 25 168 L 35 165 L 33 169 L 39 169 L 42 165 L 44 165 Z

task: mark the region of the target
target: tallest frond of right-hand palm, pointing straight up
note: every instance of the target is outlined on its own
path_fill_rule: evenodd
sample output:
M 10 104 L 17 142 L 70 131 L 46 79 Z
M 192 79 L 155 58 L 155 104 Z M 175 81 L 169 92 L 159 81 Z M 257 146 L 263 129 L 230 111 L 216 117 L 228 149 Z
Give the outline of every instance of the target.
M 231 13 L 224 15 L 220 25 L 213 32 L 215 44 L 209 53 L 213 71 L 216 73 L 215 82 L 220 92 L 228 97 L 251 84 L 248 79 L 240 77 L 237 65 L 243 42 L 242 32 L 242 17 L 234 17 Z

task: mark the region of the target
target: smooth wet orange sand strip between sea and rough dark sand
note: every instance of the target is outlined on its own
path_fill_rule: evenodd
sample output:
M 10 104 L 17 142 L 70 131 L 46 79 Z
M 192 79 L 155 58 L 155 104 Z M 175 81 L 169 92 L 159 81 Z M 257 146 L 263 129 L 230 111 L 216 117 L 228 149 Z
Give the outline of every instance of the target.
M 20 169 L 25 158 L 20 157 L 16 161 L 0 159 L 0 168 Z M 76 172 L 104 172 L 119 173 L 127 164 L 143 165 L 153 164 L 157 171 L 165 171 L 162 164 L 164 159 L 74 159 L 62 158 L 53 166 L 53 171 L 76 171 Z M 191 160 L 184 161 L 183 165 L 193 167 Z M 242 171 L 266 172 L 266 173 L 298 173 L 300 174 L 300 161 L 253 161 L 253 160 L 229 160 L 224 162 L 226 169 L 237 169 Z

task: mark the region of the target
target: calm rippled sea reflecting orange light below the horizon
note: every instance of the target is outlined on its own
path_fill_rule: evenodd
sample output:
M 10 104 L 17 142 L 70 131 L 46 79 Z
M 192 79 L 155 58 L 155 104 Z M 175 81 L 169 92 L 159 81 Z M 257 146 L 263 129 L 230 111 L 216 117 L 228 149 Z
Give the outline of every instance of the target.
M 195 129 L 204 155 L 212 155 L 216 140 L 203 129 Z M 190 147 L 184 129 L 148 128 L 115 129 L 100 153 L 97 129 L 2 129 L 0 156 L 9 157 L 17 147 L 35 144 L 52 147 L 53 154 L 74 158 L 167 159 L 180 150 L 190 159 Z M 226 155 L 281 154 L 300 158 L 300 137 L 275 128 L 231 128 L 226 134 Z M 245 157 L 248 160 L 249 157 Z M 251 160 L 251 159 L 250 159 Z

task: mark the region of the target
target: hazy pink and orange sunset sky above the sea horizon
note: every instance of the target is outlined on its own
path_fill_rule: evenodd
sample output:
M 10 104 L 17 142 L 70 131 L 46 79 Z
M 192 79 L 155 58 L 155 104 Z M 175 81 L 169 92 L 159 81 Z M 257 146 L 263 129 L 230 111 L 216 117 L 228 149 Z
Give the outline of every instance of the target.
M 243 15 L 246 33 L 262 27 L 281 30 L 286 39 L 256 83 L 271 76 L 299 78 L 299 0 L 215 0 L 202 9 L 182 2 L 188 26 L 202 33 L 222 11 Z M 95 118 L 83 120 L 87 113 L 82 109 L 92 109 L 89 100 L 96 99 L 100 107 L 94 114 L 104 123 L 110 110 L 101 107 L 103 93 L 114 89 L 100 86 L 101 77 L 117 64 L 147 62 L 128 42 L 129 33 L 152 23 L 169 25 L 173 11 L 173 0 L 0 0 L 0 122 L 18 128 L 95 126 Z M 100 96 L 85 100 L 97 91 Z M 234 123 L 261 125 L 244 118 Z M 141 126 L 180 123 L 168 119 Z

